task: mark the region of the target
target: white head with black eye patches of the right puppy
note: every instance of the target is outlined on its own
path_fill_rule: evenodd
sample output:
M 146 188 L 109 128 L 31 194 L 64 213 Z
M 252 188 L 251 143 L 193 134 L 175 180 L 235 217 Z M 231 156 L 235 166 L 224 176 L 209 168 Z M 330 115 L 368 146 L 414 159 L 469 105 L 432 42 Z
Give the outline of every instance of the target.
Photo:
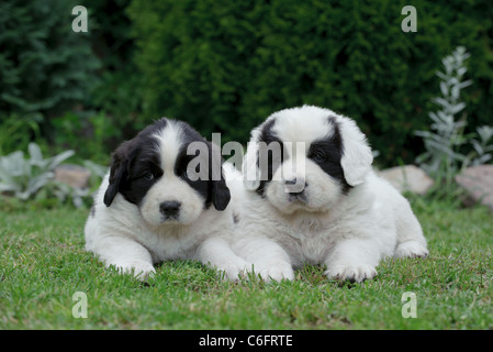
M 245 185 L 284 213 L 327 211 L 365 182 L 372 161 L 352 120 L 310 106 L 285 109 L 251 132 Z

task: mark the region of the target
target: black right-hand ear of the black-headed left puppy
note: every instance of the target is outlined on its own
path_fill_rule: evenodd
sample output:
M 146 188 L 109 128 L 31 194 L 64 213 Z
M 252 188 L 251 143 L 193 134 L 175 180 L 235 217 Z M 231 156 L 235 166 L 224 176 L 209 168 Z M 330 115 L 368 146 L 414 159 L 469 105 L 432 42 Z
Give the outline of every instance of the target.
M 229 188 L 227 188 L 226 179 L 223 172 L 223 158 L 221 157 L 221 150 L 217 145 L 208 142 L 211 154 L 211 172 L 210 179 L 212 183 L 212 204 L 216 210 L 223 211 L 226 209 L 231 200 Z

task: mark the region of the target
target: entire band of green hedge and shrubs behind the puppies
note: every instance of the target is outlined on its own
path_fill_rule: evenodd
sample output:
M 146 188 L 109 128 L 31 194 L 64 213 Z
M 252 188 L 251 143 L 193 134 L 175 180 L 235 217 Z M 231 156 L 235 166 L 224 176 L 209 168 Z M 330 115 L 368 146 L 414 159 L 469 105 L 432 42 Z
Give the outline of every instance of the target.
M 312 103 L 355 118 L 382 165 L 414 162 L 458 45 L 471 54 L 468 129 L 492 118 L 489 0 L 415 1 L 416 33 L 401 31 L 404 1 L 88 0 L 88 33 L 71 31 L 74 4 L 0 6 L 2 154 L 36 138 L 108 163 L 161 116 L 246 142 L 271 112 Z

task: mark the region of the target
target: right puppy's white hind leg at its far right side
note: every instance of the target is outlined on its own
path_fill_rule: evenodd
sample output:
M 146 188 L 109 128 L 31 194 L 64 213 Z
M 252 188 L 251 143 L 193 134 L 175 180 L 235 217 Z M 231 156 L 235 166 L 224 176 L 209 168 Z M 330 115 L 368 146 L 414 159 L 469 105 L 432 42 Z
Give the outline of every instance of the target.
M 426 257 L 428 255 L 426 239 L 407 201 L 399 208 L 395 218 L 397 245 L 394 251 L 394 257 Z

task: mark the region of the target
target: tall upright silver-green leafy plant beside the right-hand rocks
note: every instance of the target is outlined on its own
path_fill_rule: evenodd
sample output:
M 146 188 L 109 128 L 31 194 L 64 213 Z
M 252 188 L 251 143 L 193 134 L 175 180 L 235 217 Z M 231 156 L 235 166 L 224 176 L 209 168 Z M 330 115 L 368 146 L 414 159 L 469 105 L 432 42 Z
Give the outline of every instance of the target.
M 466 48 L 458 46 L 451 55 L 441 61 L 445 72 L 437 72 L 441 79 L 441 97 L 432 100 L 440 110 L 428 114 L 433 121 L 430 131 L 415 132 L 423 138 L 426 150 L 418 155 L 416 163 L 433 178 L 445 180 L 448 185 L 463 167 L 490 161 L 490 152 L 493 151 L 493 145 L 489 144 L 493 128 L 481 127 L 477 129 L 477 133 L 464 134 L 466 114 L 457 118 L 466 108 L 466 103 L 461 101 L 461 90 L 472 84 L 471 80 L 463 80 L 468 72 L 466 61 L 469 57 Z M 473 148 L 464 154 L 463 150 L 468 144 Z

